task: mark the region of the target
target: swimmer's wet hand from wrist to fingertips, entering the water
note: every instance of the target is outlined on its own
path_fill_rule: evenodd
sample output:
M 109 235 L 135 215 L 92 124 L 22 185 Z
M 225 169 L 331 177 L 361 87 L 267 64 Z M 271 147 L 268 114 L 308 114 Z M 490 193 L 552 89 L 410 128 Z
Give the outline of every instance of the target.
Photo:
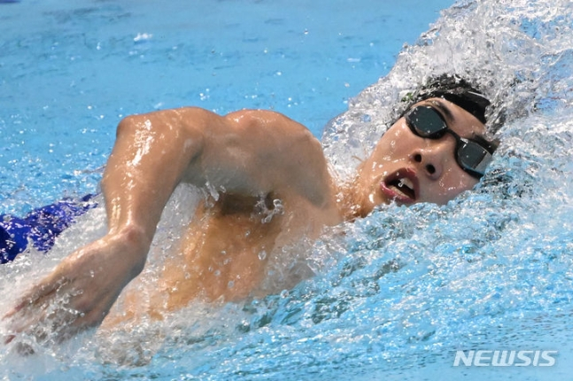
M 101 324 L 143 270 L 146 253 L 141 245 L 106 236 L 69 255 L 4 316 L 11 331 L 5 343 L 21 332 L 42 343 L 59 342 Z

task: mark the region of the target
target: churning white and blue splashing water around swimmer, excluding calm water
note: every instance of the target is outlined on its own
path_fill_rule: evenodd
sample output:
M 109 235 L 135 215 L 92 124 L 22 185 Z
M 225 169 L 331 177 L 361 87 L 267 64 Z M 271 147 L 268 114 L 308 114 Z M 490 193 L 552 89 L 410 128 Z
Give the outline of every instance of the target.
M 498 106 L 490 119 L 506 118 L 492 131 L 502 144 L 476 190 L 442 207 L 380 208 L 316 242 L 306 254 L 317 275 L 288 291 L 243 304 L 197 305 L 169 323 L 82 337 L 74 349 L 38 354 L 38 374 L 413 379 L 425 368 L 429 377 L 456 378 L 467 376 L 451 368 L 458 348 L 554 346 L 571 353 L 572 28 L 573 9 L 564 0 L 461 1 L 444 11 L 405 47 L 388 76 L 329 123 L 323 145 L 333 171 L 345 178 L 416 83 L 443 72 L 471 75 Z M 176 193 L 164 214 L 146 269 L 151 279 L 198 195 L 186 197 Z M 70 232 L 40 267 L 97 237 L 103 221 L 81 223 L 92 226 L 89 233 L 78 240 Z M 3 286 L 26 286 L 38 275 L 38 258 L 27 258 L 0 269 Z M 110 349 L 117 346 L 126 349 L 122 358 Z M 0 360 L 14 364 L 4 377 L 23 374 L 31 362 L 10 351 L 0 351 Z M 533 377 L 527 370 L 514 375 Z

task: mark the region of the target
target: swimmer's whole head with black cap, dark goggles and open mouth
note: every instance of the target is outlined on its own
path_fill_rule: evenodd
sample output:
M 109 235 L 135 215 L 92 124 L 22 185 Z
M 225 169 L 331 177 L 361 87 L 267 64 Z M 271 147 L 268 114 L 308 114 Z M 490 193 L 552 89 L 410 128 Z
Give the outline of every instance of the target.
M 362 215 L 392 201 L 444 204 L 476 186 L 497 148 L 486 137 L 490 102 L 468 81 L 440 77 L 406 102 L 406 110 L 360 164 L 356 185 Z

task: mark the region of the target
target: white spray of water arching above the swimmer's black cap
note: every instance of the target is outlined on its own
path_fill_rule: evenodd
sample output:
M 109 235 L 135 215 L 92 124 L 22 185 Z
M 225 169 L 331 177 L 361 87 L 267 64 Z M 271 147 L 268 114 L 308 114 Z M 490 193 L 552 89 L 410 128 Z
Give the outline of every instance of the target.
M 570 13 L 569 1 L 461 1 L 445 10 L 386 77 L 326 126 L 322 141 L 334 170 L 343 178 L 352 173 L 356 157 L 368 156 L 407 106 L 405 95 L 442 73 L 475 80 L 494 105 L 490 122 L 569 110 Z

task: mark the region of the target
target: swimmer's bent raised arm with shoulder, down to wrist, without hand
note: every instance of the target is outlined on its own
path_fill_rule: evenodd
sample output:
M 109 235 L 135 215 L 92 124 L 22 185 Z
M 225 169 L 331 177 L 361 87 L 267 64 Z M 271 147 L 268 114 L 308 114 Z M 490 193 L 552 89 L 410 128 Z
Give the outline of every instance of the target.
M 315 204 L 325 202 L 329 191 L 320 142 L 276 112 L 221 117 L 182 108 L 124 118 L 102 189 L 109 234 L 138 242 L 130 274 L 143 269 L 161 213 L 182 181 L 248 195 L 288 188 Z

